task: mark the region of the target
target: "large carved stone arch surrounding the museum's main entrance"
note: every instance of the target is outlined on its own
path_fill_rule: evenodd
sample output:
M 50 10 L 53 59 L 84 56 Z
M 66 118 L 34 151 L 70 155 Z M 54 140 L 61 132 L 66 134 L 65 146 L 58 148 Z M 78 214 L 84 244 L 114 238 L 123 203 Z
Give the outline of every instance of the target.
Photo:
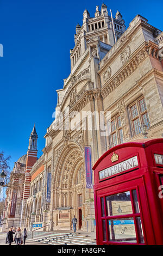
M 84 157 L 77 143 L 69 143 L 60 151 L 54 172 L 54 230 L 71 229 L 71 221 L 78 218 L 82 229 L 84 190 Z

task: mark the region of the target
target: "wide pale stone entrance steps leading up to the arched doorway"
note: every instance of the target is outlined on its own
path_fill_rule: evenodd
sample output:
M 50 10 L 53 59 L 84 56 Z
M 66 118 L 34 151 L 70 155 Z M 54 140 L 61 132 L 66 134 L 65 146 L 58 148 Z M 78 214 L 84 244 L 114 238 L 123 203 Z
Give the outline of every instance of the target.
M 95 232 L 28 231 L 27 239 L 48 245 L 96 245 Z

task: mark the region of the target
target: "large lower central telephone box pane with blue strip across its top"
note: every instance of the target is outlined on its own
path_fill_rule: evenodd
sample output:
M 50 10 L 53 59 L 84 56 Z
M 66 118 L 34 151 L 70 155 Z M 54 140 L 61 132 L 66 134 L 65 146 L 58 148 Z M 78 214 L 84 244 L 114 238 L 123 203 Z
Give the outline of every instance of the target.
M 109 241 L 136 243 L 136 232 L 133 218 L 108 220 Z

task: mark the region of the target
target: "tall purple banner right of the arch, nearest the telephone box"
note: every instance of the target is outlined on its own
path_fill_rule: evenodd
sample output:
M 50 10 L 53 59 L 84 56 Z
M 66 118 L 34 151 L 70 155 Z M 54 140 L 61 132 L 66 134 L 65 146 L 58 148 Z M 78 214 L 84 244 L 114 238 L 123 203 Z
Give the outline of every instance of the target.
M 84 153 L 85 153 L 86 188 L 93 188 L 91 147 L 84 147 Z

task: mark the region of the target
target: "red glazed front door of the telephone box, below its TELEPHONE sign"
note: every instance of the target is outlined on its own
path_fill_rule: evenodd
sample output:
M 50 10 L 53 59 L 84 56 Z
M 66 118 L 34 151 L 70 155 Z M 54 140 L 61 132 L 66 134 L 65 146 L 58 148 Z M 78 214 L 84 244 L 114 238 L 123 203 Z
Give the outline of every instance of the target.
M 96 221 L 98 234 L 101 234 L 97 238 L 99 245 L 153 244 L 152 225 L 142 178 L 103 188 L 96 192 L 96 200 Z M 148 241 L 147 232 L 151 232 Z

